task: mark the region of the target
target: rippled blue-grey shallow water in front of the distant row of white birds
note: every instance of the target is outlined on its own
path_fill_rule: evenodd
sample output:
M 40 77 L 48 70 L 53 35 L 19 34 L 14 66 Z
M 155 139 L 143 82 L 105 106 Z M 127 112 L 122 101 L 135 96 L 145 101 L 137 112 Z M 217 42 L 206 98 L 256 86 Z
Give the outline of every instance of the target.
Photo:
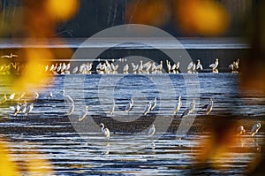
M 193 165 L 201 151 L 200 143 L 209 137 L 208 131 L 203 128 L 199 132 L 187 129 L 185 134 L 176 134 L 167 130 L 170 122 L 173 119 L 181 121 L 179 115 L 193 99 L 196 108 L 187 119 L 201 119 L 204 111 L 200 107 L 208 103 L 210 97 L 214 100 L 214 107 L 208 119 L 227 114 L 261 119 L 265 113 L 265 97 L 256 92 L 241 96 L 238 80 L 239 75 L 234 73 L 59 75 L 50 80 L 50 84 L 43 85 L 40 98 L 34 102 L 34 110 L 28 116 L 11 115 L 11 107 L 17 102 L 1 104 L 1 137 L 8 139 L 11 157 L 19 165 L 23 166 L 28 152 L 42 153 L 52 164 L 47 167 L 51 167 L 56 175 L 198 173 Z M 2 85 L 2 88 L 6 86 Z M 63 89 L 75 101 L 75 111 L 69 117 L 66 115 L 69 104 L 64 102 Z M 56 97 L 47 98 L 49 91 Z M 127 114 L 125 105 L 132 96 L 133 111 Z M 182 96 L 183 106 L 174 117 L 173 107 L 178 96 Z M 27 94 L 24 99 L 29 101 L 32 97 L 33 94 Z M 158 97 L 155 111 L 142 117 L 145 105 L 155 97 Z M 113 99 L 116 109 L 110 115 Z M 87 118 L 78 122 L 79 111 L 85 105 L 91 106 Z M 116 128 L 110 119 L 122 123 Z M 147 119 L 155 123 L 153 138 L 146 134 L 151 125 Z M 110 142 L 104 140 L 100 127 L 89 120 L 97 125 L 100 121 L 108 125 Z M 130 124 L 137 120 L 140 125 L 133 126 L 135 133 L 132 134 Z M 249 124 L 242 125 L 246 125 L 246 131 L 250 131 L 255 121 L 250 120 Z M 190 122 L 193 126 L 193 120 Z M 206 167 L 199 173 L 244 174 L 255 154 L 261 151 L 262 138 L 262 126 L 256 140 L 247 135 L 237 138 L 230 152 L 216 158 L 217 167 Z

